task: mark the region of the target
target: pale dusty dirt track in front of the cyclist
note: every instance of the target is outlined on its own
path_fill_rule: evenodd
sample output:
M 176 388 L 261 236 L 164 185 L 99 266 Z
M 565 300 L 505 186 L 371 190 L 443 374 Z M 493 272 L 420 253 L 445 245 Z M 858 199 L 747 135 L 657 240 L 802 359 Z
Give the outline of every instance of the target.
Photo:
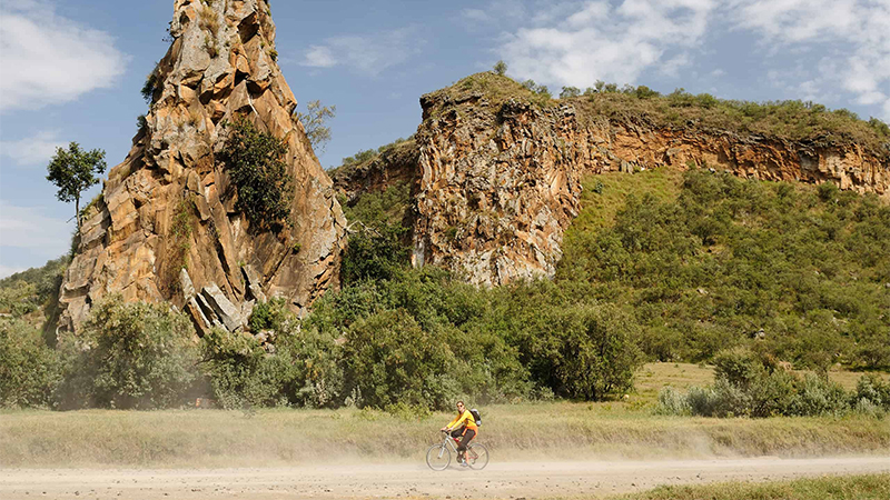
M 659 484 L 890 472 L 890 457 L 424 463 L 217 470 L 0 469 L 0 499 L 356 499 L 600 497 Z

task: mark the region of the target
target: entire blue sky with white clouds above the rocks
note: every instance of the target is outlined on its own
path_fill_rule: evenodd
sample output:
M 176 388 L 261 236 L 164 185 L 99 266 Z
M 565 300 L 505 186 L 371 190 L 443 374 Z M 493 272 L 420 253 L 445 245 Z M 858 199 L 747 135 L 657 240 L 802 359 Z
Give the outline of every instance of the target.
M 0 0 L 0 278 L 68 251 L 46 180 L 70 141 L 121 162 L 172 0 Z M 890 0 L 275 0 L 299 101 L 336 106 L 326 168 L 408 137 L 419 97 L 507 63 L 557 94 L 596 80 L 723 99 L 812 100 L 890 122 Z M 83 196 L 89 200 L 98 187 Z

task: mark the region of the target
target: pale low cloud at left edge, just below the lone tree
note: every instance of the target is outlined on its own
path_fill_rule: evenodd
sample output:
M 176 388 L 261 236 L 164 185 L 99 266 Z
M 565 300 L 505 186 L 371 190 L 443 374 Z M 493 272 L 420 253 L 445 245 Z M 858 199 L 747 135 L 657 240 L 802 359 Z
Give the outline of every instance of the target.
M 71 214 L 73 216 L 73 207 Z M 0 247 L 27 249 L 36 256 L 60 256 L 68 250 L 73 222 L 43 216 L 40 208 L 0 201 Z

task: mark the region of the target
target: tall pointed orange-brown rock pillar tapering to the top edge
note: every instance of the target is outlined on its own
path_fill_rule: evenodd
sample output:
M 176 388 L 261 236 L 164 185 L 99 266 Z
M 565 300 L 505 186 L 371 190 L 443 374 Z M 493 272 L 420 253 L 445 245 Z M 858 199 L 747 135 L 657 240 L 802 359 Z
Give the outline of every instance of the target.
M 169 300 L 208 323 L 222 321 L 205 308 L 225 310 L 233 329 L 245 302 L 283 297 L 301 311 L 337 284 L 345 220 L 293 118 L 297 102 L 275 61 L 268 1 L 177 0 L 170 32 L 147 126 L 83 223 L 62 284 L 62 329 L 76 330 L 109 293 Z M 235 210 L 219 153 L 224 124 L 239 116 L 287 144 L 293 226 L 251 228 Z M 225 301 L 201 304 L 196 291 L 208 290 Z

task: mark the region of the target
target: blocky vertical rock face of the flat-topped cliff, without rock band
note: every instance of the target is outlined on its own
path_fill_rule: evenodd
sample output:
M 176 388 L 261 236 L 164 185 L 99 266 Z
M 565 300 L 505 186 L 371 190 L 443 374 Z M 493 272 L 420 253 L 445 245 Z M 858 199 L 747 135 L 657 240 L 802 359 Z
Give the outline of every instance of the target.
M 580 210 L 574 110 L 497 109 L 482 94 L 422 104 L 414 264 L 485 286 L 552 276 Z

